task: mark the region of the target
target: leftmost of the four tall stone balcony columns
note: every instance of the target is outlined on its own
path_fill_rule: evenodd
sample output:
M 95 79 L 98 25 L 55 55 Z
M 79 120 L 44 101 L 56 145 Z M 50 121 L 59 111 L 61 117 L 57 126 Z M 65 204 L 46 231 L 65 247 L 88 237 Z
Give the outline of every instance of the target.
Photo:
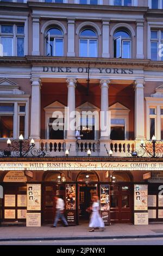
M 30 114 L 30 138 L 40 139 L 41 123 L 41 80 L 33 77 L 32 82 L 32 100 Z

